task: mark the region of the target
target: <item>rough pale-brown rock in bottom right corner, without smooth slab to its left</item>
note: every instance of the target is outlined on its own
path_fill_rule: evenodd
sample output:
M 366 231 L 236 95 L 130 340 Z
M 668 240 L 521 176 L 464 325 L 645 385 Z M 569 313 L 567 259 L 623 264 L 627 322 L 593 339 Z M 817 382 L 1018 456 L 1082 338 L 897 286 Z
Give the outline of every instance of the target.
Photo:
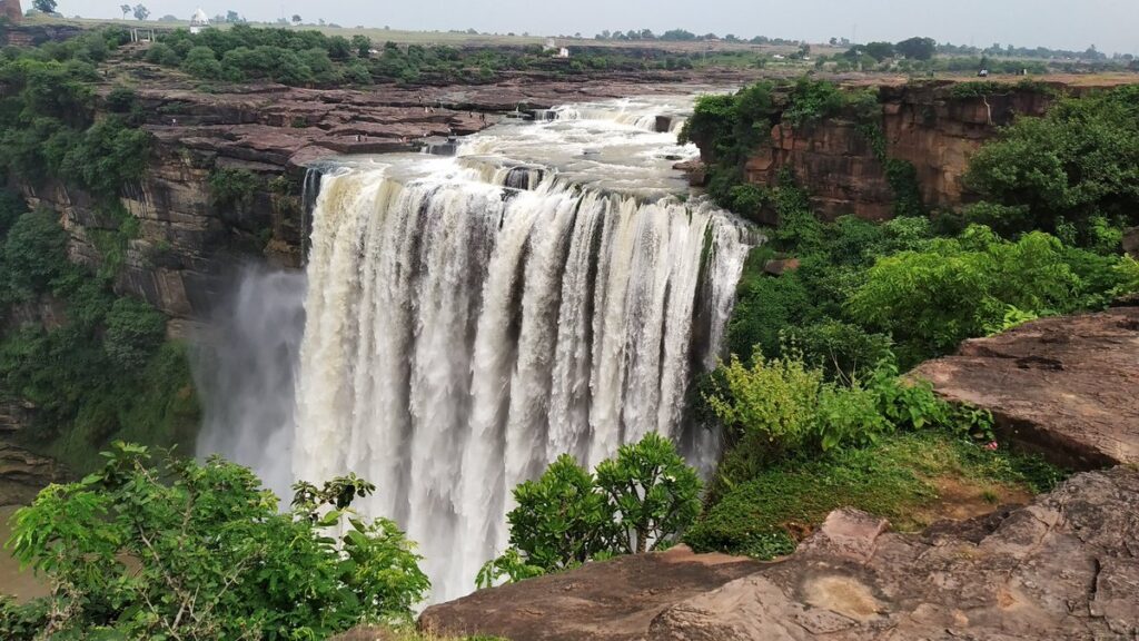
M 835 512 L 794 557 L 678 603 L 645 639 L 1139 635 L 1134 470 L 1080 474 L 1026 508 L 920 536 L 882 534 L 884 525 Z

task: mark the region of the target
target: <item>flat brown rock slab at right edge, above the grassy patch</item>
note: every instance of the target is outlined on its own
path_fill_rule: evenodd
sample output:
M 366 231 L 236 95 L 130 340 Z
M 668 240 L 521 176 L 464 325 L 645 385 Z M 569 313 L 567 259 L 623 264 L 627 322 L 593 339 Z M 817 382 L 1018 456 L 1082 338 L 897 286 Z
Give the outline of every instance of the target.
M 1139 307 L 1042 318 L 913 376 L 992 412 L 1006 439 L 1077 469 L 1139 463 Z

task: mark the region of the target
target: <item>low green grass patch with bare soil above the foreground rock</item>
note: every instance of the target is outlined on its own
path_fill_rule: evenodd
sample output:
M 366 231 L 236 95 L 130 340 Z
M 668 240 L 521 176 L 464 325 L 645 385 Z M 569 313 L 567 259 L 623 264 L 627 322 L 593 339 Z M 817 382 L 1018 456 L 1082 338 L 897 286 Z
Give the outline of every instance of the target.
M 876 446 L 780 462 L 730 487 L 688 532 L 696 551 L 771 559 L 795 550 L 837 508 L 920 529 L 939 516 L 1047 492 L 1065 471 L 1036 456 L 990 452 L 943 432 L 902 433 Z

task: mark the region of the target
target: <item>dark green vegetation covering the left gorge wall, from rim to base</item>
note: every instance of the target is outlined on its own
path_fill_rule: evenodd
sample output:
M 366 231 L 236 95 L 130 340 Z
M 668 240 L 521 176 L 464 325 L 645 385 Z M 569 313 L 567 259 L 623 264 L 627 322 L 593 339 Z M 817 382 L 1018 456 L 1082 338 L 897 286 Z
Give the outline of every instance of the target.
M 0 54 L 0 173 L 38 188 L 56 179 L 93 198 L 97 273 L 68 260 L 59 213 L 0 193 L 0 396 L 32 408 L 32 428 L 16 438 L 75 472 L 114 438 L 189 446 L 197 423 L 185 346 L 166 342 L 158 311 L 113 291 L 139 234 L 117 196 L 141 177 L 149 139 L 129 90 L 112 91 L 110 113 L 96 116 L 92 81 L 124 40 L 105 30 Z

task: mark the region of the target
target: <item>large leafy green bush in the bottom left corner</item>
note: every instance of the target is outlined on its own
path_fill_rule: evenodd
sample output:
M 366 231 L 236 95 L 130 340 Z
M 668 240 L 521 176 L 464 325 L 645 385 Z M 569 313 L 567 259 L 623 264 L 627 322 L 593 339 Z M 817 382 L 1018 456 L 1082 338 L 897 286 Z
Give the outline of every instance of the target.
M 350 509 L 375 490 L 354 476 L 297 484 L 282 513 L 216 457 L 155 465 L 121 443 L 104 456 L 16 512 L 7 546 L 52 593 L 0 610 L 8 639 L 323 639 L 407 622 L 429 587 L 394 522 Z

